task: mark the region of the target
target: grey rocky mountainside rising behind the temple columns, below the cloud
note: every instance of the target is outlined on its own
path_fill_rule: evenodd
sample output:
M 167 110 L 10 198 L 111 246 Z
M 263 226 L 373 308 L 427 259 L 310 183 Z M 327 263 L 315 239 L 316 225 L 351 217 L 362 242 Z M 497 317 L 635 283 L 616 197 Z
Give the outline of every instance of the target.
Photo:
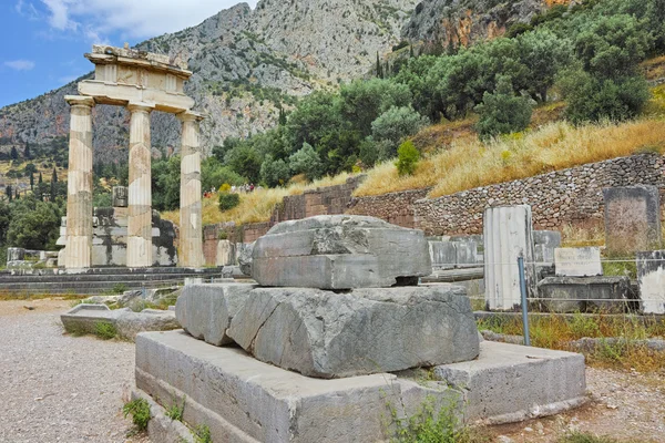
M 196 100 L 196 110 L 208 115 L 202 143 L 209 152 L 227 136 L 273 126 L 279 106 L 293 105 L 295 97 L 367 73 L 376 53 L 400 40 L 417 3 L 262 0 L 255 10 L 241 3 L 139 48 L 188 60 L 194 75 L 186 92 Z M 25 142 L 48 146 L 66 136 L 68 94 L 76 94 L 76 82 L 1 109 L 0 148 Z M 129 113 L 100 105 L 93 115 L 95 162 L 126 159 Z M 174 116 L 153 114 L 152 141 L 155 155 L 177 152 L 180 123 Z

